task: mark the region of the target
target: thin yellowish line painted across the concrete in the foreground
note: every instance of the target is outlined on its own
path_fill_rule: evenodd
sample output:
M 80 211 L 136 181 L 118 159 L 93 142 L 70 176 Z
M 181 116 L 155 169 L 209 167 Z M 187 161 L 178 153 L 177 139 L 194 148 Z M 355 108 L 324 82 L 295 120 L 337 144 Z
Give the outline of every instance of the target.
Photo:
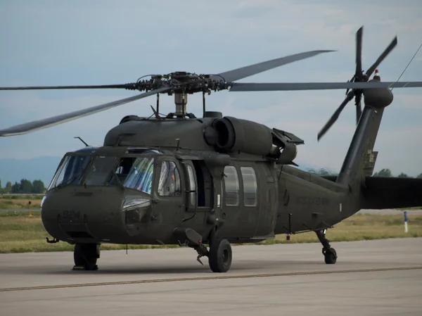
M 81 284 L 61 284 L 46 286 L 27 286 L 0 289 L 0 292 L 10 291 L 27 291 L 27 290 L 47 290 L 47 289 L 65 289 L 70 287 L 87 287 L 102 285 L 124 285 L 124 284 L 143 284 L 143 283 L 161 283 L 161 282 L 179 282 L 179 281 L 202 281 L 217 279 L 248 279 L 255 277 L 288 277 L 294 275 L 314 275 L 314 274 L 340 274 L 340 273 L 356 273 L 356 272 L 383 272 L 383 271 L 399 271 L 399 270 L 422 270 L 422 267 L 386 267 L 379 269 L 359 269 L 359 270 L 337 270 L 337 271 L 314 271 L 314 272 L 286 272 L 286 273 L 266 273 L 266 274 L 241 274 L 241 275 L 219 275 L 214 277 L 184 277 L 174 279 L 150 279 L 135 281 L 119 281 L 119 282 L 98 282 L 98 283 L 81 283 Z

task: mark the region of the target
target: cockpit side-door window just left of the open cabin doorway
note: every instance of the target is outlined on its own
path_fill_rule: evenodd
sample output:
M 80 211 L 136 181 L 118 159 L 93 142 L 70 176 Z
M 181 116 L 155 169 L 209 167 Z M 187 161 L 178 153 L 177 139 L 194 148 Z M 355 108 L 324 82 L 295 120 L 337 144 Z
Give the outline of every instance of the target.
M 161 164 L 158 194 L 160 196 L 181 195 L 179 170 L 174 161 L 163 161 Z

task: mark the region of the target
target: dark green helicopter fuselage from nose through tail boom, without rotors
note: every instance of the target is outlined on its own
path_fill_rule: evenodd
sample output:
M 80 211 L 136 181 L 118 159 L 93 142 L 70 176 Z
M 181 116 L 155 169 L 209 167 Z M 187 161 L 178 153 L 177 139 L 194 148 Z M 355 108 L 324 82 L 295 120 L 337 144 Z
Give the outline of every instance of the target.
M 206 241 L 218 227 L 245 243 L 328 228 L 358 210 L 328 179 L 256 153 L 216 152 L 204 137 L 212 120 L 195 121 L 127 122 L 104 146 L 68 153 L 42 203 L 46 231 L 72 244 L 181 244 L 175 229 Z M 250 141 L 243 148 L 267 150 Z

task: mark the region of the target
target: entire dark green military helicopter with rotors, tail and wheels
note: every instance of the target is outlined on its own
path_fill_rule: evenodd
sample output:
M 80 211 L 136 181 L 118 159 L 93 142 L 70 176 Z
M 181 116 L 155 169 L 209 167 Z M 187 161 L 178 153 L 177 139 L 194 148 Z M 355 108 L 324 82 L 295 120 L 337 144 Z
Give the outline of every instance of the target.
M 51 127 L 124 103 L 157 96 L 149 118 L 127 115 L 108 131 L 103 146 L 70 151 L 60 161 L 41 202 L 41 219 L 53 240 L 75 245 L 74 269 L 97 270 L 100 245 L 162 244 L 193 248 L 212 272 L 227 272 L 231 244 L 315 232 L 325 263 L 338 258 L 326 229 L 362 208 L 422 205 L 421 179 L 371 177 L 373 151 L 392 87 L 422 82 L 381 82 L 378 60 L 362 70 L 363 27 L 357 32 L 356 70 L 349 82 L 237 83 L 272 68 L 331 51 L 308 51 L 217 75 L 172 72 L 134 83 L 97 86 L 3 87 L 25 89 L 128 89 L 146 91 L 72 113 L 0 130 L 13 136 Z M 375 75 L 369 80 L 373 72 Z M 304 141 L 291 132 L 207 111 L 211 91 L 347 89 L 346 98 L 318 134 L 320 139 L 353 98 L 357 128 L 338 177 L 296 167 Z M 203 117 L 188 113 L 188 95 L 203 94 Z M 174 95 L 175 111 L 160 115 L 160 94 Z M 361 101 L 364 96 L 364 108 Z

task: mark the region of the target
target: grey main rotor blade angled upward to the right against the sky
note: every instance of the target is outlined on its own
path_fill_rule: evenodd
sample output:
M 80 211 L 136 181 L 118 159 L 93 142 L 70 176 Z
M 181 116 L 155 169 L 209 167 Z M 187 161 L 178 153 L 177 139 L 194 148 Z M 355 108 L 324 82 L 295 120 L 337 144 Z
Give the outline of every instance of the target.
M 213 75 L 211 77 L 215 80 L 219 80 L 219 79 L 221 80 L 221 77 L 223 77 L 224 81 L 226 82 L 234 82 L 236 80 L 241 80 L 245 77 L 256 75 L 260 72 L 264 72 L 273 68 L 280 67 L 281 65 L 286 65 L 288 63 L 293 63 L 295 61 L 301 61 L 302 59 L 316 56 L 319 53 L 329 53 L 329 52 L 331 51 L 306 51 L 304 53 L 296 53 L 294 55 L 272 59 L 271 61 L 264 61 L 262 63 L 255 63 L 254 65 L 248 65 L 242 68 L 229 70 L 226 72 L 219 73 L 218 75 Z

